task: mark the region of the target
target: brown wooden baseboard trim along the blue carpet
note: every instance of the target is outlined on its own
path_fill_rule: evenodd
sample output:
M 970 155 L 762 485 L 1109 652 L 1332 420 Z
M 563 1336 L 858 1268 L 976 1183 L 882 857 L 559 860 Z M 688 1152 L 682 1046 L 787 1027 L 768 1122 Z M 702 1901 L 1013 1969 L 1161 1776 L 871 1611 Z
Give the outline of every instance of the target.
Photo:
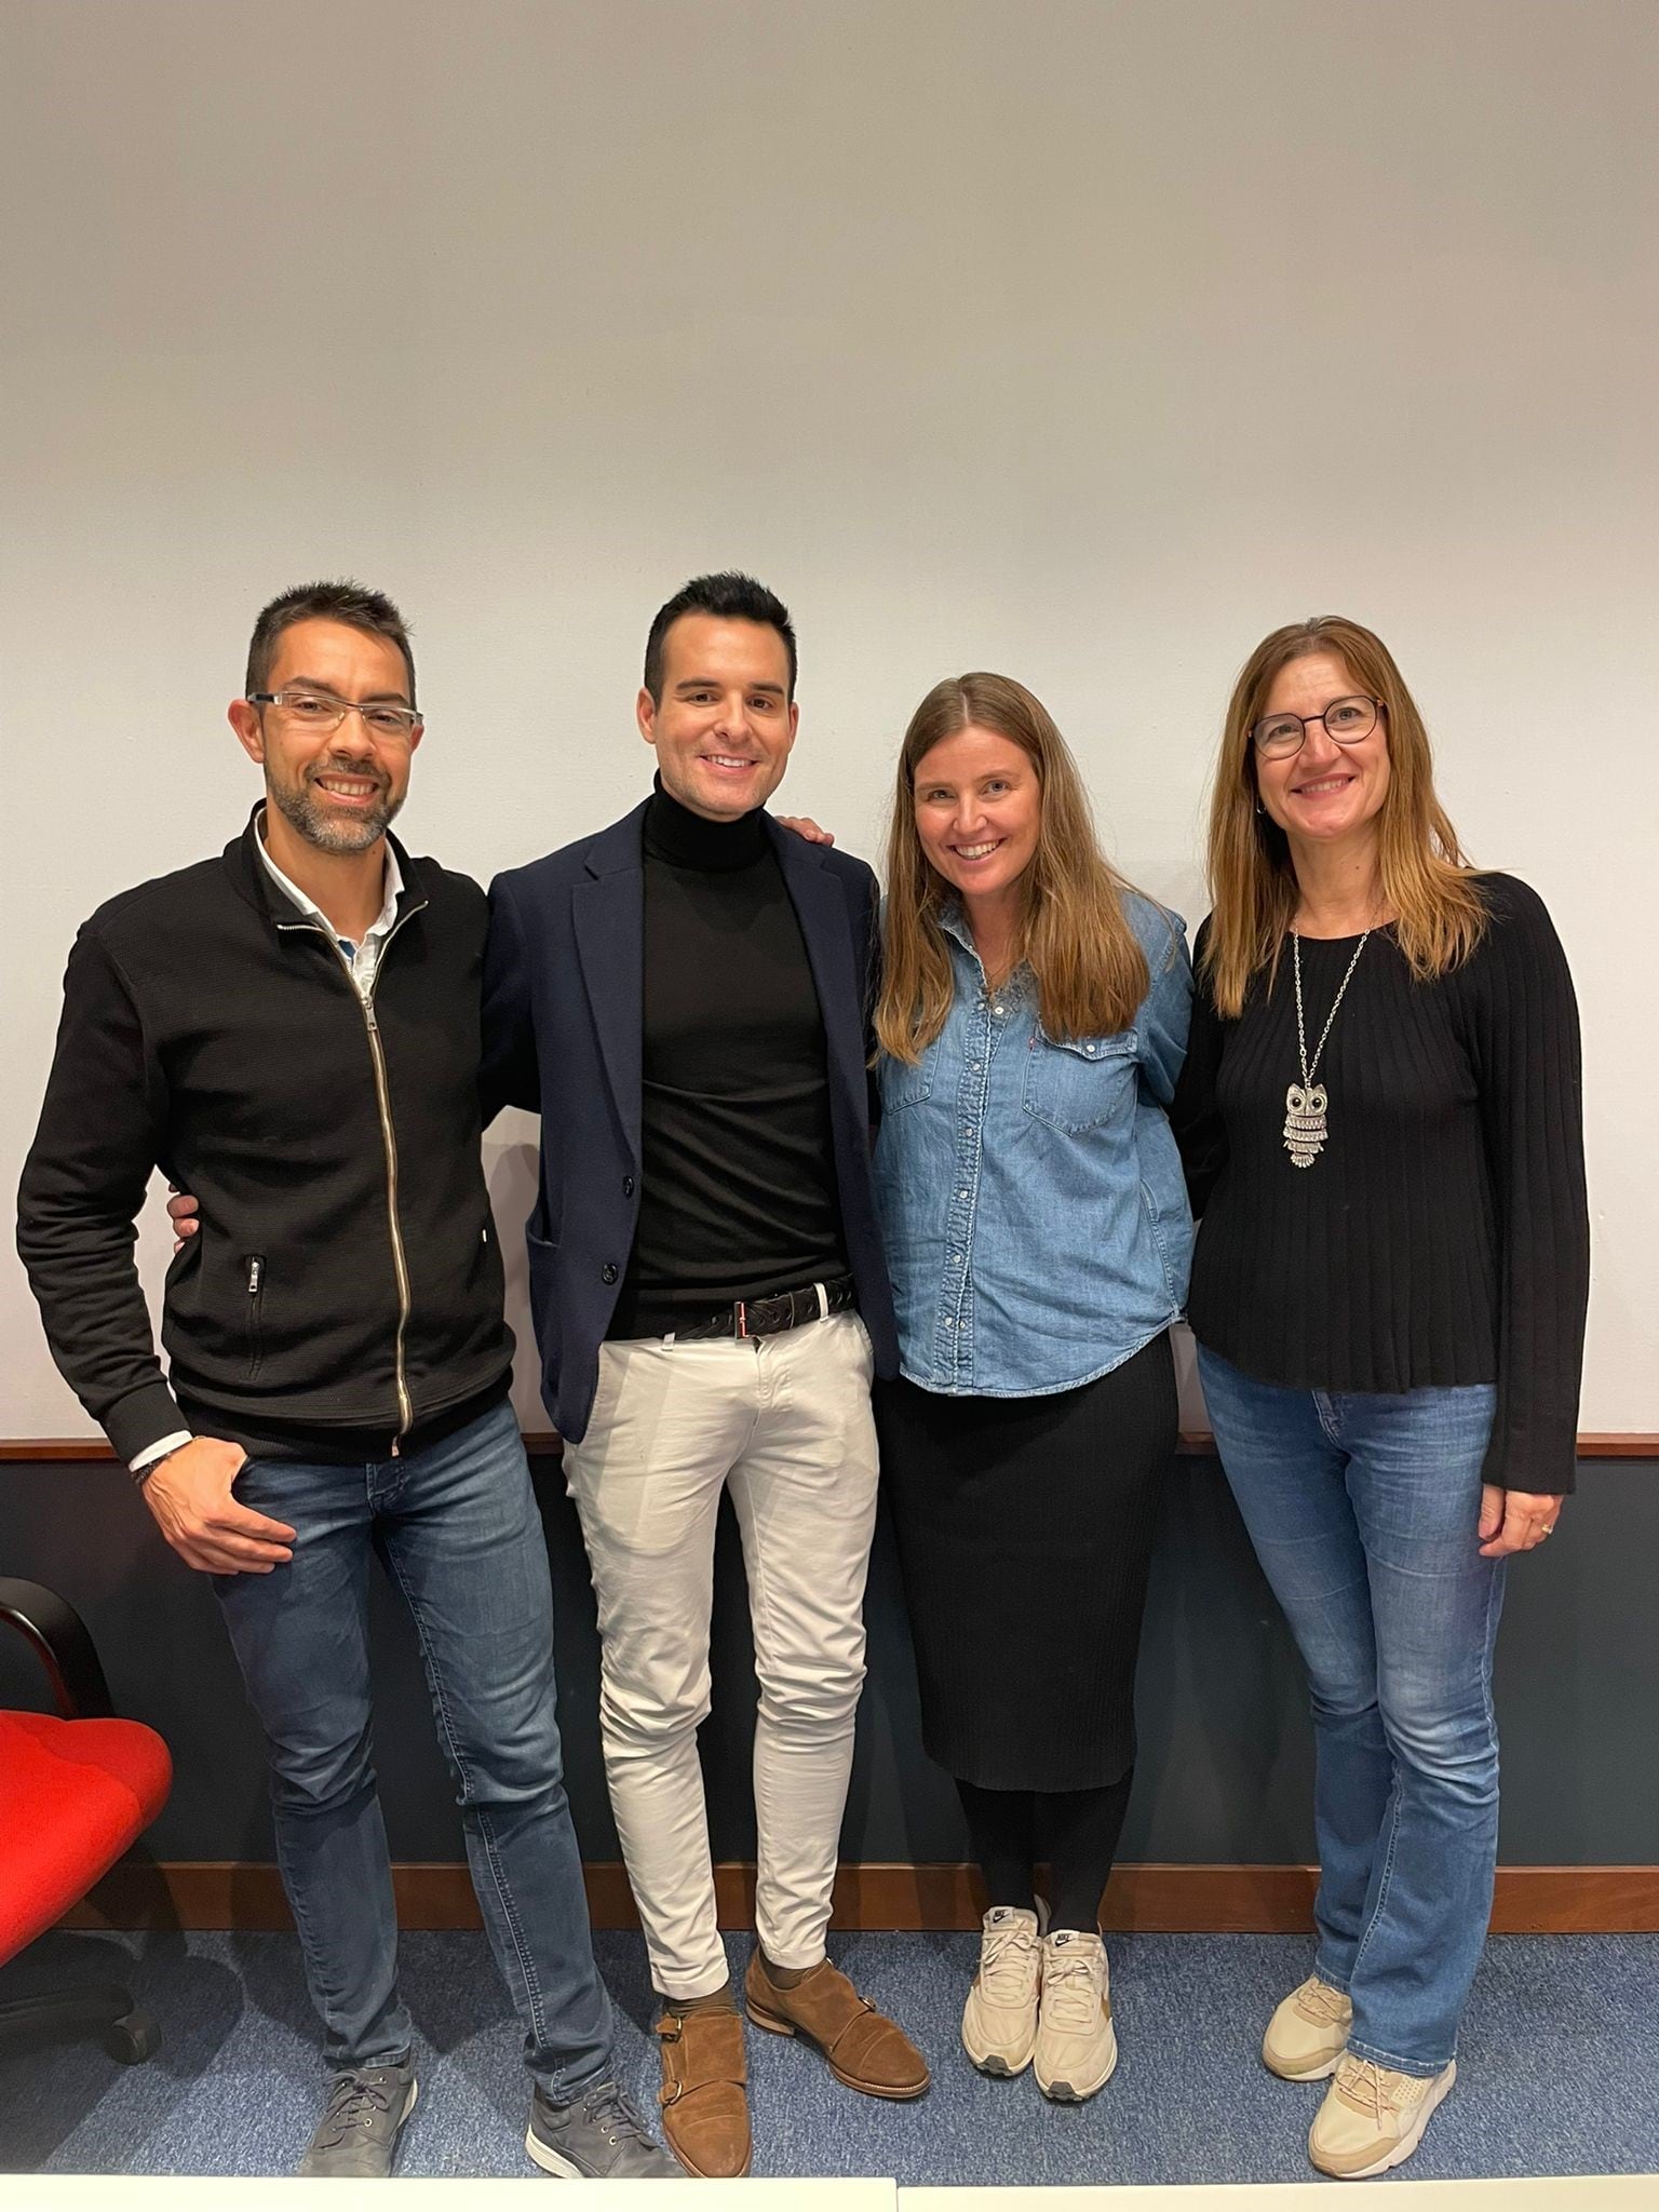
M 465 1865 L 392 1869 L 405 1929 L 476 1929 Z M 639 1920 L 619 1860 L 586 1867 L 599 1929 Z M 754 1867 L 714 1869 L 721 1927 L 754 1927 Z M 836 1876 L 838 1929 L 975 1929 L 982 1898 L 967 1865 L 845 1865 Z M 1294 1936 L 1312 1927 L 1312 1867 L 1119 1867 L 1102 1924 L 1155 1936 Z M 276 1867 L 232 1860 L 128 1860 L 69 1913 L 80 1929 L 285 1929 Z M 1500 1867 L 1493 1931 L 1659 1933 L 1659 1867 Z

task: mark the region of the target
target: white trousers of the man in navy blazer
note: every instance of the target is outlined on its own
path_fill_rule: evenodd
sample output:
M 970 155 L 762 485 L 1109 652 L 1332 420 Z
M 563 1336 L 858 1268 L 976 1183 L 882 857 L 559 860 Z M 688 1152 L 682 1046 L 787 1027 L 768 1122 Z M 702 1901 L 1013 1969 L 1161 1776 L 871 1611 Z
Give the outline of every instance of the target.
M 599 1599 L 611 1809 L 666 1997 L 726 1980 L 697 1761 L 723 1486 L 743 1531 L 761 1683 L 754 1924 L 774 1966 L 825 1955 L 865 1679 L 869 1380 L 856 1314 L 781 1336 L 611 1343 L 588 1433 L 564 1447 Z

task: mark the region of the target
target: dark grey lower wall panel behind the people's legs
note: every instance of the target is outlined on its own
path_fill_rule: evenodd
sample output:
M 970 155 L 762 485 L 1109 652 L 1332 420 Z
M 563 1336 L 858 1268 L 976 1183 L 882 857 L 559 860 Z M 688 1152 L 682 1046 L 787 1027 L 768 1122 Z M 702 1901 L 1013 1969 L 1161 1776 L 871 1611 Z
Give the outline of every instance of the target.
M 1659 1863 L 1659 1467 L 1588 1462 L 1562 1533 L 1520 1559 L 1498 1666 L 1511 1863 Z M 557 1604 L 562 1719 L 582 1847 L 615 1858 L 597 1743 L 593 1593 L 555 1469 L 542 1475 Z M 88 1619 L 117 1705 L 173 1745 L 177 1783 L 153 1832 L 159 1858 L 268 1860 L 259 1734 L 210 1586 L 155 1535 L 113 1467 L 0 1467 L 0 1573 L 60 1588 Z M 376 1745 L 392 1849 L 460 1858 L 449 1778 L 414 1637 L 374 1579 Z M 1066 1601 L 1082 1601 L 1071 1593 Z M 916 1728 L 905 1608 L 887 1528 L 869 1579 L 869 1686 L 843 1851 L 956 1860 L 956 1796 Z M 0 1641 L 0 1703 L 44 1703 L 15 1639 Z M 737 1531 L 721 1524 L 714 1714 L 703 1730 L 714 1854 L 754 1849 L 748 1790 L 754 1672 Z M 1310 1734 L 1296 1655 L 1214 1460 L 1170 1467 L 1141 1657 L 1141 1754 L 1124 1836 L 1130 1860 L 1283 1863 L 1312 1856 Z

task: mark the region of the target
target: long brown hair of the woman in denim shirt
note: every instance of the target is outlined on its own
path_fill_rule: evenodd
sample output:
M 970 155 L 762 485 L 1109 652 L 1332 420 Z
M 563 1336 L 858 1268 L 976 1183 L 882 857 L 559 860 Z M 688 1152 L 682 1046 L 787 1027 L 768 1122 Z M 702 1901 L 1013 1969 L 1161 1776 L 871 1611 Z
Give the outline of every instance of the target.
M 956 889 L 916 834 L 916 770 L 958 730 L 995 730 L 1031 759 L 1042 792 L 1037 849 L 1020 876 L 1013 962 L 1037 980 L 1051 1037 L 1128 1029 L 1146 998 L 1148 967 L 1124 914 L 1128 885 L 1095 841 L 1084 779 L 1048 710 L 1013 677 L 973 672 L 936 684 L 909 719 L 887 832 L 887 916 L 876 1040 L 894 1060 L 918 1060 L 951 1011 L 951 956 L 940 914 Z

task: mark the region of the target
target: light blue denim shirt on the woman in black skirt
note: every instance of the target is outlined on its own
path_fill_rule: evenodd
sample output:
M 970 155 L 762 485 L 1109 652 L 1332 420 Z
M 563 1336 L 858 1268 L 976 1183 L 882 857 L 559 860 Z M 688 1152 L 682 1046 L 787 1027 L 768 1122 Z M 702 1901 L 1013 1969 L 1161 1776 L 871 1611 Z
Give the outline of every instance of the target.
M 880 1062 L 876 1197 L 902 1371 L 947 1396 L 1040 1398 L 1179 1318 L 1192 1214 L 1166 1106 L 1186 1055 L 1186 925 L 1126 894 L 1152 984 L 1135 1026 L 1055 1044 L 1026 969 L 987 993 L 945 916 L 956 998 L 916 1066 Z

